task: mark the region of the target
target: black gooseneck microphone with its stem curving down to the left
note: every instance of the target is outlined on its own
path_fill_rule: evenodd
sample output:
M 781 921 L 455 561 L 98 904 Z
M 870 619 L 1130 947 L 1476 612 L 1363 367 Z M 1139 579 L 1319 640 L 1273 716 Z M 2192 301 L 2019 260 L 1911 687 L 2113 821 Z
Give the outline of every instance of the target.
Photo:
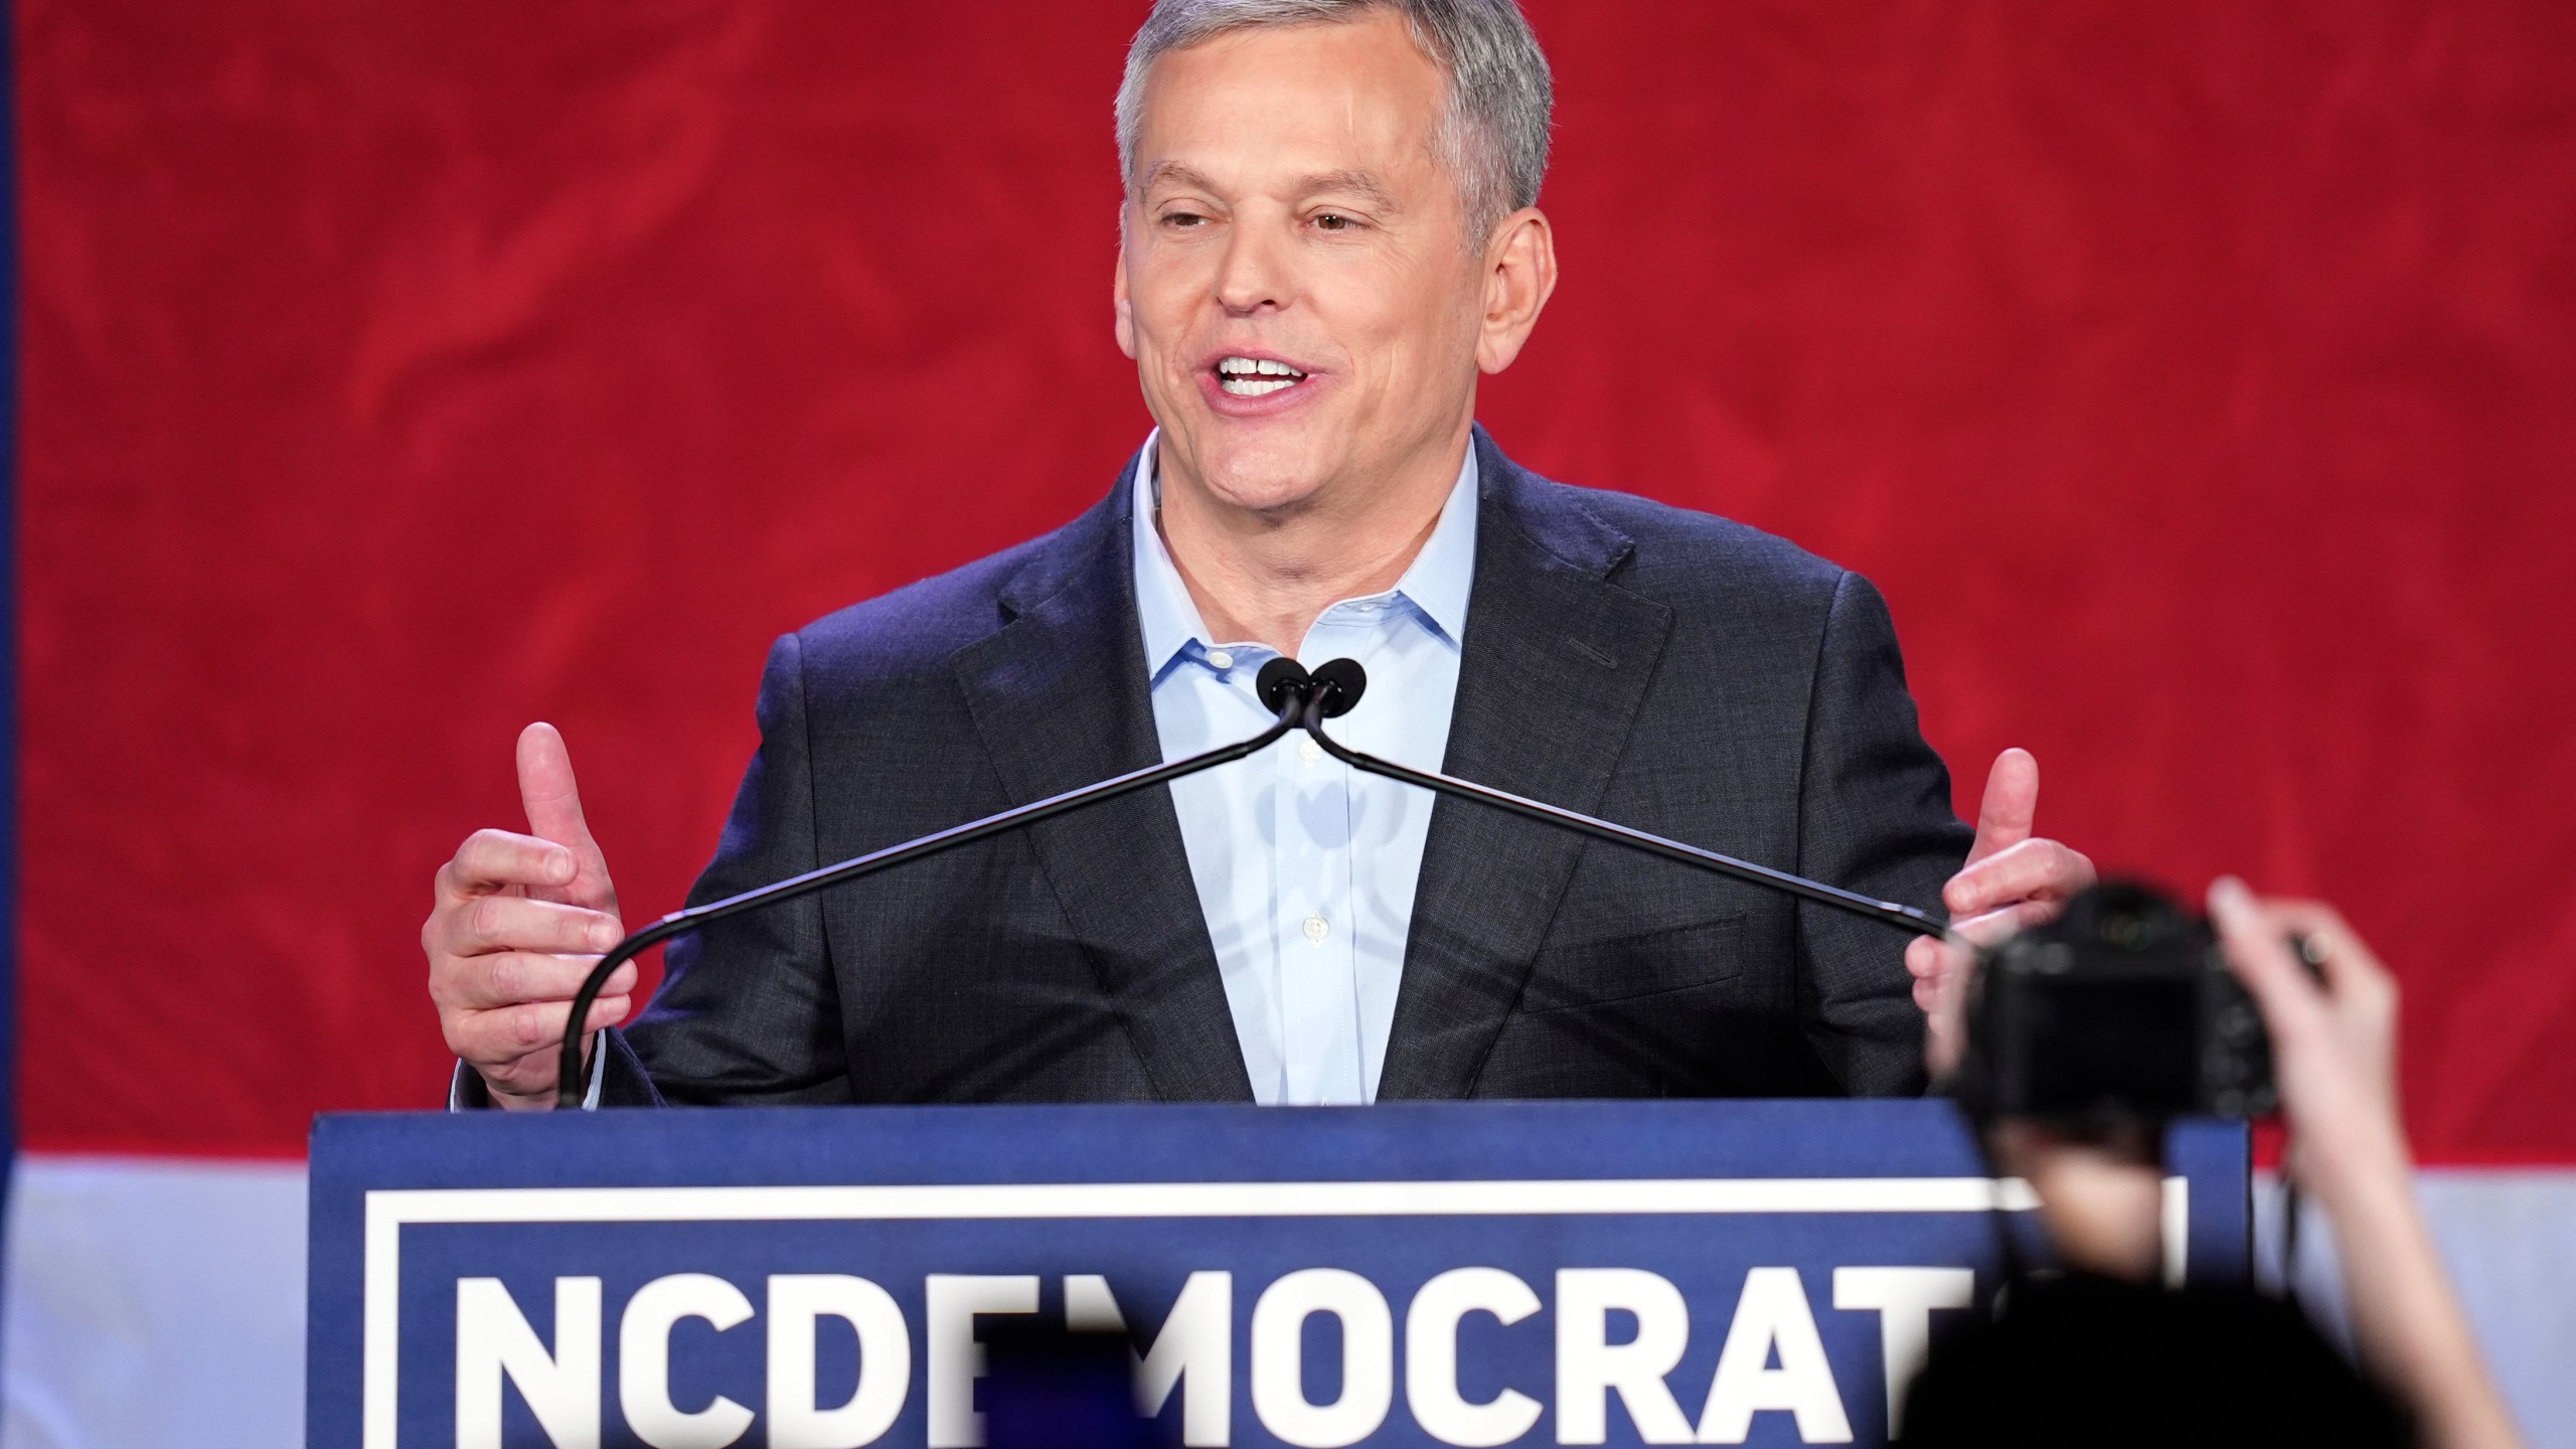
M 1337 660 L 1337 663 L 1350 665 L 1350 660 Z M 1347 686 L 1350 704 L 1358 704 L 1360 688 L 1365 686 L 1365 676 L 1358 673 L 1360 665 L 1350 665 L 1350 670 L 1355 676 L 1355 683 Z M 1340 676 L 1334 678 L 1340 681 Z M 953 851 L 956 846 L 966 846 L 987 835 L 999 835 L 1002 830 L 1036 825 L 1038 820 L 1051 820 L 1056 815 L 1082 810 L 1084 804 L 1100 804 L 1103 799 L 1118 799 L 1121 794 L 1133 794 L 1139 789 L 1149 789 L 1157 784 L 1175 781 L 1180 776 L 1193 776 L 1198 771 L 1208 771 L 1224 763 L 1257 755 L 1260 750 L 1267 750 L 1270 745 L 1275 745 L 1291 730 L 1298 727 L 1298 719 L 1306 717 L 1309 696 L 1316 694 L 1316 681 L 1311 681 L 1306 676 L 1306 668 L 1298 665 L 1296 660 L 1278 657 L 1262 665 L 1262 673 L 1255 676 L 1252 688 L 1260 696 L 1262 706 L 1278 714 L 1278 719 L 1273 719 L 1267 730 L 1262 730 L 1249 740 L 1234 745 L 1218 745 L 1203 755 L 1190 755 L 1188 761 L 1172 761 L 1167 766 L 1146 766 L 1141 771 L 1128 771 L 1123 776 L 1105 779 L 1100 784 L 1069 789 L 1064 794 L 1054 794 L 1023 804 L 1018 810 L 987 815 L 984 820 L 969 820 L 966 825 L 953 825 L 935 835 L 922 835 L 920 841 L 904 841 L 902 846 L 886 846 L 884 851 L 868 851 L 866 856 L 853 856 L 848 861 L 840 861 L 837 866 L 819 866 L 801 877 L 788 877 L 783 882 L 747 890 L 742 895 L 729 895 L 724 900 L 711 900 L 706 905 L 690 905 L 688 910 L 672 910 L 662 920 L 654 920 L 652 926 L 618 941 L 616 949 L 600 957 L 600 962 L 590 967 L 590 975 L 582 977 L 582 990 L 572 993 L 572 1016 L 564 1018 L 564 1057 L 559 1067 L 562 1075 L 556 1078 L 554 1085 L 554 1104 L 562 1109 L 582 1106 L 585 1096 L 582 1031 L 577 1031 L 577 1026 L 590 1016 L 590 1003 L 600 998 L 600 987 L 608 985 L 608 975 L 616 972 L 621 964 L 641 957 L 644 951 L 659 946 L 662 941 L 670 941 L 672 936 L 696 931 L 701 926 L 711 926 L 716 920 L 724 920 L 726 915 L 742 915 L 744 910 L 760 910 L 765 905 L 796 900 L 799 895 L 811 895 L 817 890 L 840 884 L 845 879 L 876 874 L 891 866 L 902 866 L 907 861 L 917 861 L 922 856 Z M 1340 709 L 1327 709 L 1324 717 L 1342 714 L 1342 709 L 1350 709 L 1350 704 L 1342 704 Z

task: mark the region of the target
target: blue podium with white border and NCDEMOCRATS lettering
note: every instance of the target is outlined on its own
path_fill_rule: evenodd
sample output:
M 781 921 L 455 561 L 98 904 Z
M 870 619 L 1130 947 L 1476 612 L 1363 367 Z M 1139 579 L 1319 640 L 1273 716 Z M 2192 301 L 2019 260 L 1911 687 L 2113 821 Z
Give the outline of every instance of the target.
M 2249 1271 L 2177 1124 L 2166 1276 Z M 322 1116 L 314 1446 L 963 1446 L 1123 1328 L 1164 1444 L 1878 1444 L 2038 1243 L 1942 1101 Z

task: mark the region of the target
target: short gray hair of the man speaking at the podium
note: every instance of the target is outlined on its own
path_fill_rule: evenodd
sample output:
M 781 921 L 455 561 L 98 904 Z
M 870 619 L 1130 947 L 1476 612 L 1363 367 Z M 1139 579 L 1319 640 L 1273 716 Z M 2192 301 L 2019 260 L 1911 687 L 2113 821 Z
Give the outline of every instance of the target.
M 1154 0 L 1118 83 L 1118 165 L 1128 188 L 1144 77 L 1159 57 L 1229 31 L 1358 21 L 1370 10 L 1399 15 L 1422 54 L 1448 72 L 1448 111 L 1432 144 L 1458 175 L 1471 245 L 1507 214 L 1535 206 L 1556 88 L 1515 0 Z

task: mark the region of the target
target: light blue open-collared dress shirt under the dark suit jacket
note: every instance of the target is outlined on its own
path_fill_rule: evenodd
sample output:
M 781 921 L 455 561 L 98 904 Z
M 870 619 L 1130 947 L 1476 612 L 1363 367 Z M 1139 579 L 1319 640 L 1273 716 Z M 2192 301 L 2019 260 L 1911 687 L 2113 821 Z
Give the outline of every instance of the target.
M 1159 441 L 1162 433 L 1146 438 L 1136 469 L 1136 614 L 1162 758 L 1177 761 L 1270 724 L 1252 681 L 1275 652 L 1208 637 L 1154 526 Z M 1298 645 L 1309 668 L 1352 657 L 1368 670 L 1360 706 L 1332 722 L 1334 740 L 1440 768 L 1473 580 L 1476 451 L 1468 449 L 1440 523 L 1396 588 L 1334 603 Z M 1430 792 L 1352 771 L 1306 735 L 1170 789 L 1252 1096 L 1376 1101 L 1432 822 Z

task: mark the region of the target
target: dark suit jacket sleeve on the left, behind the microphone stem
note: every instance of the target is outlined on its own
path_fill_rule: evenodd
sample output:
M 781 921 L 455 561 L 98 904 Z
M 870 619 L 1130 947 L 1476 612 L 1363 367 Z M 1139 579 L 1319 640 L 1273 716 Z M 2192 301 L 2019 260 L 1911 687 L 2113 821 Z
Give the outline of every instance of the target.
M 804 660 L 796 634 L 786 634 L 760 676 L 760 753 L 688 902 L 724 900 L 817 864 Z M 822 895 L 672 941 L 662 990 L 605 1049 L 605 1106 L 850 1101 Z

